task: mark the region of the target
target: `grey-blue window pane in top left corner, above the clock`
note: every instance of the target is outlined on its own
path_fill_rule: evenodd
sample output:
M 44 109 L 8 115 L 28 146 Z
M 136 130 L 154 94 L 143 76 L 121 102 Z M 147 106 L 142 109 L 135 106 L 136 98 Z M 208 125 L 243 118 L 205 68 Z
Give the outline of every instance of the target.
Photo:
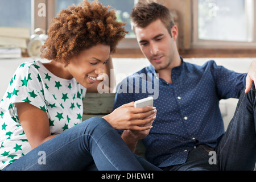
M 0 0 L 0 27 L 31 28 L 31 1 Z

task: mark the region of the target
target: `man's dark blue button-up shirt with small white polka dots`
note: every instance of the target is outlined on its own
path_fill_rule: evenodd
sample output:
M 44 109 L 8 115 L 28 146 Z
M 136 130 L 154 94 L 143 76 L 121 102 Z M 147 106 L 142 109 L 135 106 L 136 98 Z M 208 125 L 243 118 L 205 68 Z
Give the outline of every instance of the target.
M 229 71 L 214 61 L 202 66 L 183 61 L 172 69 L 171 79 L 172 84 L 158 78 L 150 65 L 123 80 L 115 96 L 114 109 L 154 97 L 158 113 L 142 141 L 146 159 L 158 167 L 185 163 L 188 152 L 198 145 L 216 147 L 224 133 L 219 101 L 239 98 L 246 74 Z

